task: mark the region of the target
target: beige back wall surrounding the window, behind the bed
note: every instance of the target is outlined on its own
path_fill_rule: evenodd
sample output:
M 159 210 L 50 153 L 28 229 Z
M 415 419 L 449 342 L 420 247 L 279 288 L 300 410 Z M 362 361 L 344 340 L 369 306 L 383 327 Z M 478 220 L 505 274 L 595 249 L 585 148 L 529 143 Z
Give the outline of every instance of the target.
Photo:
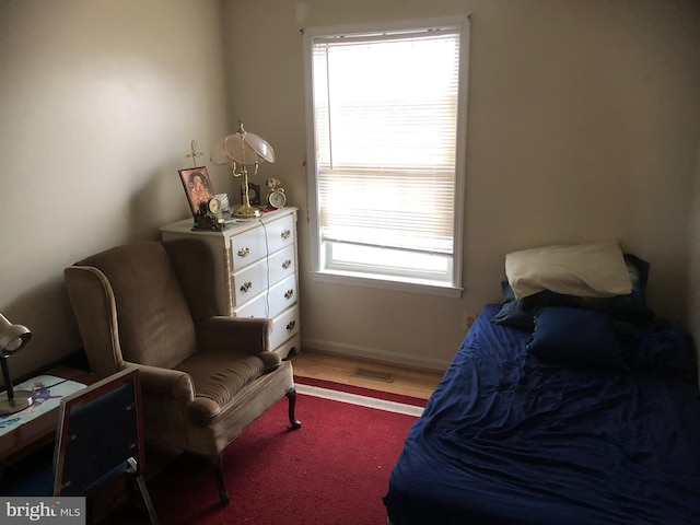
M 428 368 L 465 312 L 500 299 L 506 253 L 618 237 L 652 264 L 650 305 L 687 322 L 700 138 L 700 7 L 688 1 L 224 0 L 231 119 L 270 141 L 300 206 L 303 346 Z M 308 276 L 304 26 L 471 13 L 460 300 Z M 420 74 L 420 71 L 417 71 Z M 260 182 L 258 180 L 258 182 Z

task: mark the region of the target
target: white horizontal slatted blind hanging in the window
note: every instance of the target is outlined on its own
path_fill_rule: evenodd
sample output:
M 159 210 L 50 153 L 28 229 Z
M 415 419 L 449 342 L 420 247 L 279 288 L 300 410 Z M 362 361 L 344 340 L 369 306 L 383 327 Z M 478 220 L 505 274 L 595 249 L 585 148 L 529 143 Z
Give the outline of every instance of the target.
M 313 40 L 322 241 L 452 255 L 458 28 Z

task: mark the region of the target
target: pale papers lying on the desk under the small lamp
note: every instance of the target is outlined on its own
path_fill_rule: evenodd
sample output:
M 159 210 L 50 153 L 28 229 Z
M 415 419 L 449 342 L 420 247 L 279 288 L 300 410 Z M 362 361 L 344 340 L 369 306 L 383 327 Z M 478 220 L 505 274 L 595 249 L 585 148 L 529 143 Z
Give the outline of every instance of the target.
M 85 388 L 85 385 L 82 383 L 56 377 L 55 375 L 38 375 L 15 385 L 15 390 L 32 392 L 32 405 L 20 412 L 0 416 L 0 435 L 7 434 L 19 425 L 52 410 L 60 405 L 61 397 L 69 396 L 83 388 Z M 58 415 L 56 418 L 58 418 Z

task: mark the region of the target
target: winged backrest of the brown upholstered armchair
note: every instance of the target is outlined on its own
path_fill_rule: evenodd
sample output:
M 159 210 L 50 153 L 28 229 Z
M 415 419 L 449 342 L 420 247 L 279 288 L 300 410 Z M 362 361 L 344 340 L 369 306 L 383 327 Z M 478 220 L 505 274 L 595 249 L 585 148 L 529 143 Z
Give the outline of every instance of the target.
M 192 315 L 203 318 L 213 308 L 212 261 L 201 246 L 196 240 L 132 243 L 66 268 L 93 371 L 112 374 L 124 361 L 171 369 L 197 352 Z

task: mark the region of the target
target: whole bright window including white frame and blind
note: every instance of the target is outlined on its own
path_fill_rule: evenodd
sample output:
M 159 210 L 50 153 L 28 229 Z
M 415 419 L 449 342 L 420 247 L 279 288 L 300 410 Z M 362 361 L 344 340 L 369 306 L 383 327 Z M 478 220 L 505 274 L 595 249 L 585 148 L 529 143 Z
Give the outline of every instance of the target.
M 467 21 L 305 31 L 315 276 L 459 294 Z

